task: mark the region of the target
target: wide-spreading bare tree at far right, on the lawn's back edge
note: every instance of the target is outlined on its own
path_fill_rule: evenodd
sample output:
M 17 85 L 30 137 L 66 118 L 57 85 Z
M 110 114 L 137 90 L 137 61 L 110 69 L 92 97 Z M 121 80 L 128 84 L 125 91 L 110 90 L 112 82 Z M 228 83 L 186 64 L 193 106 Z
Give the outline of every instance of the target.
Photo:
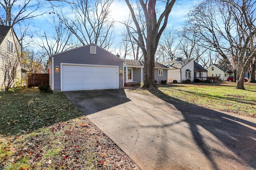
M 255 55 L 255 1 L 206 0 L 188 14 L 188 28 L 198 45 L 214 50 L 235 72 L 236 88 L 244 89 L 244 76 Z

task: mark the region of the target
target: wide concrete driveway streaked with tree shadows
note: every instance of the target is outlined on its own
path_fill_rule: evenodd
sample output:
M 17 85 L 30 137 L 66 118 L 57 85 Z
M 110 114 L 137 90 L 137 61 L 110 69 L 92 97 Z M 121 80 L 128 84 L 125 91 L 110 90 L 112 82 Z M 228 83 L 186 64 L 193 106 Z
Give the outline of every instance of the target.
M 143 170 L 256 169 L 256 119 L 125 90 L 64 93 Z

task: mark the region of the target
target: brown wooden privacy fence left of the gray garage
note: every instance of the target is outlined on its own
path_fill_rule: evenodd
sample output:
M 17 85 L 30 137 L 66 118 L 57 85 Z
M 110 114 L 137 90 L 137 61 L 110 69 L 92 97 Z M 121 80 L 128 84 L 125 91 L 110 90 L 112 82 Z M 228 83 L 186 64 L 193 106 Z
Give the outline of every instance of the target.
M 49 84 L 49 74 L 28 74 L 28 87 Z

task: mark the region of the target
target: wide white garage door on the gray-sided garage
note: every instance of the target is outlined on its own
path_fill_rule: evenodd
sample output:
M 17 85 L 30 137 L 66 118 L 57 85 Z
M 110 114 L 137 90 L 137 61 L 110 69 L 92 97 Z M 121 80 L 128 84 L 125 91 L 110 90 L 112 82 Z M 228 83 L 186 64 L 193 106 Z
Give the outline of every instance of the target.
M 118 88 L 118 67 L 62 65 L 62 91 Z

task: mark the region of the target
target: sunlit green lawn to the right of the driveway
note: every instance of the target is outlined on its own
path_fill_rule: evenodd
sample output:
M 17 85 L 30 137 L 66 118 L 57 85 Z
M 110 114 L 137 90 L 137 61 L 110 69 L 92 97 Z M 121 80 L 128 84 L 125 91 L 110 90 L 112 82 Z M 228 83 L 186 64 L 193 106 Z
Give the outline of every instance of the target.
M 234 82 L 170 84 L 160 85 L 158 90 L 137 89 L 132 92 L 256 117 L 256 84 L 246 82 L 244 86 L 246 90 L 236 89 Z

